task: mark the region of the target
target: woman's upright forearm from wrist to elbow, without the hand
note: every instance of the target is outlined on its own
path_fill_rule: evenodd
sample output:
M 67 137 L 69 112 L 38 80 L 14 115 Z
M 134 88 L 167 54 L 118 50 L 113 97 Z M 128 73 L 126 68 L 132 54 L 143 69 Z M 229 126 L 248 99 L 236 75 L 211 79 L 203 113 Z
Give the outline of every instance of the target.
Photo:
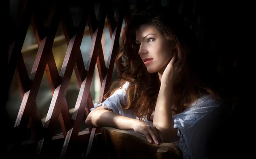
M 161 130 L 165 142 L 173 142 L 177 140 L 177 129 L 173 127 L 172 95 L 172 84 L 162 84 L 154 110 L 153 125 Z

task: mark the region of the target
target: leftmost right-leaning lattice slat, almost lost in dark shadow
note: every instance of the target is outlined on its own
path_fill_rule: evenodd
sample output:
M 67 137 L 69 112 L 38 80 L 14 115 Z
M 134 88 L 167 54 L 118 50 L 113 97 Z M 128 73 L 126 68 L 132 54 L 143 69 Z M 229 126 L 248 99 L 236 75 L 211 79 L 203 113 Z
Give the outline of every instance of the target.
M 19 17 L 18 17 L 18 23 L 17 26 L 13 26 L 12 29 L 12 33 L 9 34 L 9 38 L 12 40 L 8 41 L 11 42 L 9 44 L 9 49 L 8 49 L 8 58 L 7 58 L 7 70 L 6 70 L 6 80 L 3 82 L 4 84 L 4 90 L 3 92 L 4 95 L 2 96 L 3 100 L 2 100 L 2 106 L 0 108 L 1 110 L 1 117 L 4 119 L 4 125 L 3 127 L 5 127 L 5 131 L 3 136 L 6 137 L 6 139 L 3 140 L 2 145 L 4 146 L 4 150 L 6 150 L 6 154 L 9 155 L 10 152 L 12 152 L 12 149 L 15 149 L 15 146 L 8 146 L 10 143 L 13 143 L 12 141 L 15 141 L 16 144 L 19 143 L 20 140 L 18 137 L 16 138 L 17 140 L 15 140 L 13 137 L 14 136 L 14 130 L 12 130 L 13 124 L 11 122 L 11 120 L 9 119 L 8 113 L 6 111 L 6 103 L 8 100 L 8 92 L 9 92 L 9 88 L 11 86 L 11 82 L 12 82 L 12 78 L 13 75 L 15 73 L 15 69 L 17 66 L 17 55 L 20 53 L 20 50 L 23 46 L 23 42 L 24 39 L 26 37 L 26 32 L 28 30 L 29 27 L 29 20 L 32 14 L 32 0 L 23 0 L 20 1 L 20 5 L 19 5 Z M 10 22 L 12 22 L 11 20 L 11 16 L 9 15 L 10 18 Z M 11 24 L 11 23 L 10 23 Z M 14 23 L 12 23 L 14 24 Z M 16 32 L 15 32 L 16 31 Z M 8 147 L 7 147 L 8 146 Z

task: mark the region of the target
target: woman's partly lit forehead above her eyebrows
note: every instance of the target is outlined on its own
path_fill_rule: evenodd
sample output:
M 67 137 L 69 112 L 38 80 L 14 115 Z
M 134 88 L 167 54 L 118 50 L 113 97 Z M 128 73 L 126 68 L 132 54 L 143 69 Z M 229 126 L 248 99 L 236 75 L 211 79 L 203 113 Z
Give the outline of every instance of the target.
M 152 24 L 142 24 L 136 29 L 136 37 L 143 38 L 148 34 L 157 34 L 158 31 Z

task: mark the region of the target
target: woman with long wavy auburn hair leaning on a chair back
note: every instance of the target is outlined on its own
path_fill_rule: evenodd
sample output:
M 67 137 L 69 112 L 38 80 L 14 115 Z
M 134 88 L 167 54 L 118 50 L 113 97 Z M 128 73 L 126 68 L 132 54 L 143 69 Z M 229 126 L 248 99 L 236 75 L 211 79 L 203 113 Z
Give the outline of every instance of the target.
M 119 87 L 94 104 L 86 124 L 134 130 L 152 144 L 175 142 L 184 158 L 206 158 L 207 133 L 221 102 L 198 74 L 202 66 L 189 31 L 165 8 L 132 16 L 116 58 Z

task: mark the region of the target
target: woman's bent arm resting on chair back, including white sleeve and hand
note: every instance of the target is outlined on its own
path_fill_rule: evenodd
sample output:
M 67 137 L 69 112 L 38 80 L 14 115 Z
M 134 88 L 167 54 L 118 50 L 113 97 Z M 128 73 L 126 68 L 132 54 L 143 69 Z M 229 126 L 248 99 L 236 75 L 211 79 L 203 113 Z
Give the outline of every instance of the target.
M 130 113 L 127 110 L 119 109 L 120 100 L 125 102 L 124 96 L 126 93 L 125 85 L 122 89 L 116 90 L 108 99 L 104 101 L 105 106 L 100 104 L 96 109 L 92 110 L 85 123 L 87 125 L 93 125 L 94 127 L 109 126 L 121 130 L 134 130 L 137 133 L 143 134 L 148 142 L 159 144 L 162 141 L 161 133 L 159 133 L 156 127 L 146 124 L 144 121 L 130 118 Z M 159 141 L 159 142 L 158 142 Z

